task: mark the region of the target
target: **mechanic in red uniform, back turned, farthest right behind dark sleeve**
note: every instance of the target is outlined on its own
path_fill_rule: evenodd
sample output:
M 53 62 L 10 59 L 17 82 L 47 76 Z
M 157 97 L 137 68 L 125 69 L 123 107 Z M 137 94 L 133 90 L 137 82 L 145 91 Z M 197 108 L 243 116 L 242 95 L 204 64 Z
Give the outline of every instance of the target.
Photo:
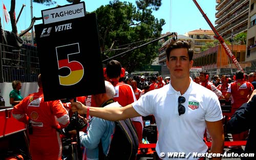
M 231 83 L 228 87 L 225 99 L 228 100 L 230 96 L 233 96 L 234 103 L 231 107 L 231 115 L 240 108 L 243 103 L 246 103 L 253 91 L 251 83 L 244 81 L 244 73 L 242 71 L 236 71 L 236 81 Z M 248 136 L 248 130 L 241 132 L 240 134 L 232 135 L 233 141 L 243 141 Z

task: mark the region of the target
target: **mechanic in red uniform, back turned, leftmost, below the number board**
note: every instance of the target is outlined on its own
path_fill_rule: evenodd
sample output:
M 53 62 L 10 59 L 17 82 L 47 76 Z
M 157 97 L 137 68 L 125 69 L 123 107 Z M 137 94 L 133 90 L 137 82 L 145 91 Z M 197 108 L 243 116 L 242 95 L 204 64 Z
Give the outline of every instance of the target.
M 59 129 L 69 124 L 69 114 L 60 100 L 45 101 L 42 93 L 41 74 L 39 90 L 15 105 L 12 115 L 28 124 L 29 145 L 33 160 L 61 160 Z

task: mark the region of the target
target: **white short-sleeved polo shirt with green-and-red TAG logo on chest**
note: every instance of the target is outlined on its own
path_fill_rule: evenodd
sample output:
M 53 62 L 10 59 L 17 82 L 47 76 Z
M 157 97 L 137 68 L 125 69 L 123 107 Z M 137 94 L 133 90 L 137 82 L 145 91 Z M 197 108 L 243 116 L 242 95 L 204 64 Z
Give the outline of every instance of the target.
M 206 128 L 205 121 L 219 121 L 223 118 L 217 95 L 207 88 L 191 81 L 187 91 L 182 95 L 186 101 L 185 114 L 178 113 L 180 92 L 170 85 L 152 90 L 133 102 L 133 108 L 142 116 L 153 114 L 158 128 L 156 151 L 184 152 L 185 156 L 193 152 L 206 153 L 203 142 Z M 169 157 L 161 157 L 170 159 Z M 175 158 L 179 159 L 179 158 Z M 180 158 L 184 159 L 184 158 Z M 190 156 L 188 159 L 198 159 Z

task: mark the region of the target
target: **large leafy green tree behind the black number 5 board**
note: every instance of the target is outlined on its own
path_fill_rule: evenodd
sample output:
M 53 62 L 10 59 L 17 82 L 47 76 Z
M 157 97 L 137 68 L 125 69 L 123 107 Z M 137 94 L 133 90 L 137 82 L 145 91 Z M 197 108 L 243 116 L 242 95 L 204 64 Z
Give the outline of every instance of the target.
M 122 3 L 118 0 L 98 8 L 95 12 L 98 18 L 102 58 L 112 57 L 160 37 L 165 21 L 155 18 L 152 9 L 154 7 L 139 8 L 132 3 Z M 157 44 L 148 44 L 115 59 L 131 73 L 145 64 L 150 64 L 152 59 L 158 56 Z

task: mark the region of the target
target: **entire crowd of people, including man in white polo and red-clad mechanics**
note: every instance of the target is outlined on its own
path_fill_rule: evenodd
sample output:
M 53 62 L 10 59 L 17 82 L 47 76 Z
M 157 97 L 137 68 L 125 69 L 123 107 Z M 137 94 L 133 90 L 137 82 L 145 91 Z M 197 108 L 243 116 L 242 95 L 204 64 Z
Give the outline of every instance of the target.
M 246 140 L 249 134 L 250 142 L 246 145 L 245 152 L 255 153 L 251 112 L 255 111 L 253 106 L 256 92 L 253 92 L 252 83 L 256 82 L 256 73 L 253 73 L 253 80 L 252 74 L 248 74 L 247 80 L 242 71 L 237 71 L 234 77 L 216 75 L 209 80 L 209 73 L 202 71 L 193 79 L 189 76 L 193 55 L 194 51 L 188 42 L 170 43 L 166 48 L 169 78 L 152 76 L 146 79 L 144 75 L 139 78 L 121 78 L 124 76 L 121 64 L 112 60 L 104 69 L 106 93 L 78 97 L 77 101 L 68 103 L 60 100 L 45 102 L 39 75 L 37 93 L 22 98 L 21 101 L 13 99 L 14 103 L 18 101 L 14 104 L 13 117 L 28 124 L 31 131 L 29 138 L 32 159 L 61 159 L 59 129 L 67 127 L 70 115 L 76 112 L 79 118 L 88 123 L 86 130 L 79 133 L 88 159 L 99 159 L 99 148 L 103 148 L 103 153 L 107 156 L 115 130 L 113 121 L 131 118 L 142 143 L 143 117 L 148 115 L 154 116 L 157 125 L 158 159 L 169 159 L 162 154 L 168 152 L 184 152 L 185 155 L 190 152 L 222 154 L 224 129 L 220 99 L 232 103 L 230 115 L 225 116 L 230 118 L 227 125 L 228 131 L 233 134 L 233 140 Z M 249 124 L 236 129 L 245 122 Z M 76 134 L 73 130 L 68 132 Z M 211 141 L 210 149 L 203 141 L 205 137 L 207 141 Z M 46 148 L 48 142 L 54 146 L 51 152 Z M 188 159 L 204 157 L 190 156 Z

